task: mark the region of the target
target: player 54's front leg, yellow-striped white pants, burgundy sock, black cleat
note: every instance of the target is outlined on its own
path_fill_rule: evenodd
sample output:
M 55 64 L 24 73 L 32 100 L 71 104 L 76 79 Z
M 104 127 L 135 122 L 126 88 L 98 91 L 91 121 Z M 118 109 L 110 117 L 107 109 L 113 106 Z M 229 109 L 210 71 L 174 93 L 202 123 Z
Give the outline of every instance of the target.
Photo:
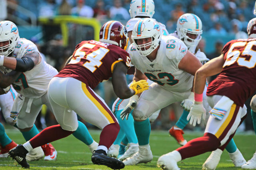
M 106 156 L 120 130 L 112 111 L 104 100 L 86 84 L 69 78 L 66 88 L 72 89 L 66 91 L 66 102 L 70 109 L 74 110 L 85 121 L 102 129 L 99 146 L 92 154 L 92 162 L 114 169 L 123 168 L 122 161 Z M 76 95 L 74 95 L 74 90 L 77 92 Z

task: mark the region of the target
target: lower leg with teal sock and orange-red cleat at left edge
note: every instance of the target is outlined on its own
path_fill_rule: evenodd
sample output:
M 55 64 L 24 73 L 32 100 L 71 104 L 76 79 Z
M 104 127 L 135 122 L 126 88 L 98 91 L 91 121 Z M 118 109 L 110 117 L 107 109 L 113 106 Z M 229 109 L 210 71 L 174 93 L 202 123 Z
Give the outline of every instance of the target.
M 16 146 L 17 144 L 8 137 L 4 130 L 4 126 L 0 123 L 0 158 L 7 158 L 9 150 Z

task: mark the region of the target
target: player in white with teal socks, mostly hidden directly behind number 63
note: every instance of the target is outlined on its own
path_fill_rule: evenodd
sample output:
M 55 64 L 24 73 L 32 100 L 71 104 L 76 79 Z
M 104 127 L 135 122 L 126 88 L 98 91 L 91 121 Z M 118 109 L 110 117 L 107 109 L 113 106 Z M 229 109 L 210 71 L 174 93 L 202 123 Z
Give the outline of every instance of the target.
M 132 29 L 134 25 L 141 18 L 152 18 L 155 13 L 154 10 L 155 10 L 155 5 L 153 0 L 147 0 L 147 1 L 132 0 L 131 1 L 130 10 L 129 10 L 131 19 L 126 23 L 126 29 L 128 31 L 128 37 L 129 37 L 129 44 L 130 42 L 132 42 L 131 36 L 132 36 Z M 162 23 L 159 23 L 159 25 L 160 25 L 160 32 L 163 35 L 168 35 L 169 33 L 166 30 L 165 25 Z M 130 70 L 132 69 L 134 68 L 130 68 Z M 134 72 L 131 72 L 129 74 L 134 74 Z M 149 79 L 147 80 L 147 82 L 149 85 L 153 83 Z M 130 100 L 130 104 L 128 105 L 129 100 Z M 117 117 L 118 122 L 120 124 L 120 131 L 113 145 L 111 145 L 111 147 L 108 149 L 108 155 L 112 157 L 117 157 L 118 154 L 123 154 L 118 158 L 119 160 L 124 160 L 138 151 L 138 140 L 136 137 L 136 133 L 134 131 L 133 117 L 132 116 L 127 117 L 127 120 L 124 120 L 124 117 L 123 119 L 120 118 L 120 113 L 123 111 L 123 109 L 128 109 L 128 111 L 131 112 L 131 110 L 135 107 L 136 105 L 135 103 L 137 102 L 137 100 L 138 100 L 137 95 L 133 96 L 130 99 L 124 99 L 124 100 L 117 98 L 112 106 L 112 111 Z M 150 122 L 154 121 L 158 117 L 159 112 L 160 110 L 156 111 L 150 116 Z M 127 142 L 125 143 L 124 141 L 127 141 L 128 144 Z M 122 153 L 121 150 L 124 150 L 125 145 L 127 145 L 126 151 L 125 152 L 123 151 L 124 153 Z M 120 152 L 119 152 L 119 149 L 120 149 Z

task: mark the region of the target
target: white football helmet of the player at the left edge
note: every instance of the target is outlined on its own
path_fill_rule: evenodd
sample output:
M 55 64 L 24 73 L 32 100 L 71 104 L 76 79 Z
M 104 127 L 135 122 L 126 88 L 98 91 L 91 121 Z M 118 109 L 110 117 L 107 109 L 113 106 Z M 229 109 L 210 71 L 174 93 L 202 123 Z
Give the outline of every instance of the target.
M 8 56 L 18 42 L 19 31 L 17 26 L 11 21 L 0 21 L 0 42 L 9 41 L 8 45 L 0 47 L 0 55 Z

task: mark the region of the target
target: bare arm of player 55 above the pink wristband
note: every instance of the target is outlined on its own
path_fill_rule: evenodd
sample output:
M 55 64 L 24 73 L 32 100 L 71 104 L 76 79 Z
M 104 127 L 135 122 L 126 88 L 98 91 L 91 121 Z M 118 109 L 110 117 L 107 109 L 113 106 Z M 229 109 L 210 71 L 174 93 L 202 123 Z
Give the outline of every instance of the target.
M 221 72 L 224 64 L 224 55 L 220 55 L 200 67 L 195 74 L 194 78 L 194 92 L 202 94 L 206 82 L 206 77 L 213 76 Z

